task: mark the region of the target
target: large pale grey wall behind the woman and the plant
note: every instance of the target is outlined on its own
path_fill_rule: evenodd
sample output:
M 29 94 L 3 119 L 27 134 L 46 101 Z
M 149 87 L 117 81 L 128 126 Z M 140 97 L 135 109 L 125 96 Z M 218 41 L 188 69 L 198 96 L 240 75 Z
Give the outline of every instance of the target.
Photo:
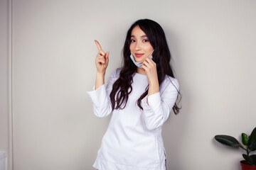
M 169 168 L 240 169 L 242 150 L 213 140 L 255 127 L 255 0 L 14 0 L 14 170 L 92 169 L 110 118 L 85 91 L 99 40 L 120 66 L 129 26 L 164 28 L 181 86 L 181 113 L 164 125 Z

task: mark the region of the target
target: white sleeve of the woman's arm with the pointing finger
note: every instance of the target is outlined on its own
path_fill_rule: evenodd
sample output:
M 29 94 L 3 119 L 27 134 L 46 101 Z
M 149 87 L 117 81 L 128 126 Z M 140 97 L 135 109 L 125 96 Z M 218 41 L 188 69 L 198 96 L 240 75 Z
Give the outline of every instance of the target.
M 112 112 L 110 93 L 115 81 L 115 73 L 115 71 L 112 72 L 110 78 L 107 80 L 107 84 L 103 84 L 96 90 L 95 86 L 93 86 L 93 91 L 87 91 L 90 101 L 92 101 L 93 111 L 99 118 L 105 118 Z

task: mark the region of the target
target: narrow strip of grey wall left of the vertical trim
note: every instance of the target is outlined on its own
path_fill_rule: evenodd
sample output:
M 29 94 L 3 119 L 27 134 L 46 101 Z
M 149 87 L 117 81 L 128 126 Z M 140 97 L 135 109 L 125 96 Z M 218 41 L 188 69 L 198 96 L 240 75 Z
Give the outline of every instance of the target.
M 9 141 L 9 6 L 7 0 L 0 1 L 0 151 L 11 157 Z M 10 145 L 9 145 L 10 144 Z M 8 159 L 11 165 L 11 159 Z

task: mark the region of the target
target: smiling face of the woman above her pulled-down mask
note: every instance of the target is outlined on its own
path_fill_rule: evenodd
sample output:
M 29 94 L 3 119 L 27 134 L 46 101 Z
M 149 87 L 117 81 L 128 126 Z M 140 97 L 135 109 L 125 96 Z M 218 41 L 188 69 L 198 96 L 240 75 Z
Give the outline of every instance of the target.
M 149 42 L 149 38 L 147 38 L 146 34 L 139 26 L 132 29 L 129 50 L 132 52 L 136 62 L 144 62 L 146 57 L 149 57 L 154 50 Z

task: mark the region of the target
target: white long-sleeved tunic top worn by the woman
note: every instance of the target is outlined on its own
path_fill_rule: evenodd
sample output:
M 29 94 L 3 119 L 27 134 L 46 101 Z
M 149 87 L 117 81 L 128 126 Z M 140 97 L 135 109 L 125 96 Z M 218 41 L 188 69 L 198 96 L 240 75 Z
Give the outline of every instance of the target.
M 95 115 L 104 118 L 112 112 L 110 92 L 120 69 L 110 75 L 107 85 L 87 91 Z M 166 170 L 161 127 L 169 117 L 178 95 L 178 81 L 166 76 L 159 93 L 138 98 L 149 85 L 146 75 L 135 73 L 132 93 L 124 109 L 114 109 L 93 166 L 99 170 Z M 148 103 L 146 103 L 148 98 Z

